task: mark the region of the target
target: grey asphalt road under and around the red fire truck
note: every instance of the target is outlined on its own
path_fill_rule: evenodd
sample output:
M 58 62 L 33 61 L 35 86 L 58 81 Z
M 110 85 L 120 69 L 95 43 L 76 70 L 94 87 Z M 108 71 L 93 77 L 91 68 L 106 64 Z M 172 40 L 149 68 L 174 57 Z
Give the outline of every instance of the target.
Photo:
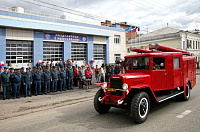
M 135 124 L 129 116 L 128 110 L 111 108 L 109 113 L 100 115 L 93 107 L 93 96 L 98 88 L 89 90 L 79 90 L 77 92 L 70 91 L 64 94 L 44 96 L 42 107 L 37 98 L 34 97 L 32 102 L 30 99 L 10 101 L 18 108 L 13 110 L 16 116 L 9 117 L 11 113 L 3 112 L 0 119 L 0 131 L 6 132 L 199 132 L 200 130 L 200 76 L 197 76 L 197 84 L 191 91 L 189 101 L 182 102 L 174 99 L 159 104 L 153 104 L 146 122 L 143 124 Z M 80 95 L 80 99 L 71 101 L 70 98 Z M 60 95 L 60 97 L 59 97 Z M 65 99 L 64 96 L 66 96 Z M 43 96 L 38 96 L 43 98 Z M 88 97 L 88 98 L 85 98 Z M 59 99 L 57 99 L 59 98 Z M 56 100 L 56 101 L 55 101 Z M 18 102 L 19 101 L 19 102 Z M 57 102 L 53 104 L 50 102 Z M 2 101 L 3 102 L 3 101 Z M 2 107 L 1 111 L 6 110 Z M 9 102 L 9 100 L 8 100 Z M 27 102 L 27 103 L 25 103 Z M 60 103 L 59 103 L 60 102 Z M 5 102 L 6 103 L 6 102 Z M 28 107 L 30 103 L 31 107 Z M 33 104 L 31 104 L 33 103 Z M 49 104 L 46 105 L 45 104 Z M 52 106 L 50 106 L 50 104 Z M 4 105 L 3 105 L 4 106 Z M 36 105 L 37 106 L 37 105 Z M 15 107 L 15 106 L 13 106 Z M 27 108 L 26 108 L 27 107 Z M 2 110 L 3 108 L 3 110 Z M 8 108 L 7 108 L 8 109 Z M 27 113 L 20 113 L 20 109 L 24 109 Z M 9 111 L 9 110 L 8 110 Z M 1 113 L 1 112 L 0 112 Z M 5 114 L 5 115 L 4 115 Z M 7 117 L 7 118 L 3 118 Z

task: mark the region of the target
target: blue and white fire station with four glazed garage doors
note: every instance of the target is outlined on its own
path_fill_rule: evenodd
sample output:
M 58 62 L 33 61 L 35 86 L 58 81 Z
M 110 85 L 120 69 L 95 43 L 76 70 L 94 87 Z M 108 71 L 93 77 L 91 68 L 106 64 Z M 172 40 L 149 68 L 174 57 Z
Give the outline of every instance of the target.
M 114 63 L 126 55 L 125 30 L 63 17 L 33 13 L 21 7 L 0 8 L 0 62 L 32 67 L 38 61 L 79 65 Z

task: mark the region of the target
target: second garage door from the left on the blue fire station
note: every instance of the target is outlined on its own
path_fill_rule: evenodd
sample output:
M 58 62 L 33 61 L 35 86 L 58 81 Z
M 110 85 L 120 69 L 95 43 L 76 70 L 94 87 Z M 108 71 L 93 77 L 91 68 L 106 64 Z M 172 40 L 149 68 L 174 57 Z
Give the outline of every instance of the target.
M 62 61 L 63 43 L 44 42 L 43 45 L 44 61 Z

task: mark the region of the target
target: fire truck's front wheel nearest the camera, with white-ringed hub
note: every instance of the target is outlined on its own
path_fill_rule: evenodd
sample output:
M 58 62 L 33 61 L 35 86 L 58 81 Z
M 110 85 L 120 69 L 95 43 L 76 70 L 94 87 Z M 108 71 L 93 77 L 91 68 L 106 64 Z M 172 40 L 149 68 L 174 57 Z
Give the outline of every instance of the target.
M 138 124 L 146 121 L 150 110 L 150 100 L 146 92 L 139 92 L 133 96 L 131 103 L 131 117 Z

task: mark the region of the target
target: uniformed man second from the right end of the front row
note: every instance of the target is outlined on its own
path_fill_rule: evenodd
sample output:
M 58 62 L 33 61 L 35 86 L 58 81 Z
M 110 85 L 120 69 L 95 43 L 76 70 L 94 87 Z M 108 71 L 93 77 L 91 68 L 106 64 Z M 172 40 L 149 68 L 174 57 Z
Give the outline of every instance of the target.
M 60 91 L 64 90 L 66 91 L 66 71 L 63 66 L 60 67 L 60 74 L 59 74 L 59 80 L 60 80 Z

